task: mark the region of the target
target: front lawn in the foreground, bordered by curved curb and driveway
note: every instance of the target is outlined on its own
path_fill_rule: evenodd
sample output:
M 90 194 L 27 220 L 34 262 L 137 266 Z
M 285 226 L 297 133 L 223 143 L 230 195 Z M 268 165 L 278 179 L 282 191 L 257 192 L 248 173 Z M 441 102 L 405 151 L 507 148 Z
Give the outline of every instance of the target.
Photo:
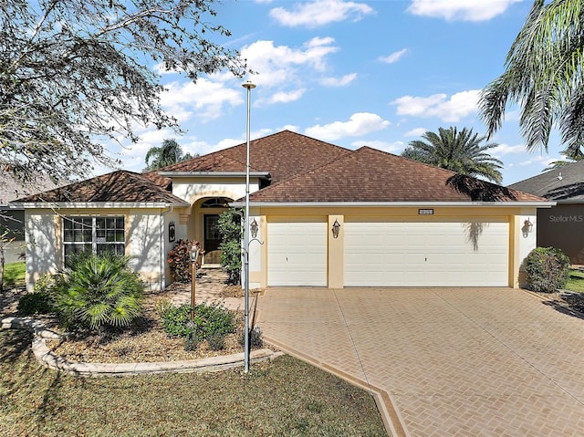
M 383 436 L 370 394 L 281 357 L 221 373 L 83 379 L 0 331 L 0 435 Z

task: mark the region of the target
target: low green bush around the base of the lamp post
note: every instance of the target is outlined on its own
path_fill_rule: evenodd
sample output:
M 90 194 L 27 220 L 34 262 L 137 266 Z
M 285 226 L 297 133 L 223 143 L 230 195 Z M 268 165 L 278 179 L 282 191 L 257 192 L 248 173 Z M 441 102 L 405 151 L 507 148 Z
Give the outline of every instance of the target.
M 221 304 L 202 303 L 194 307 L 191 322 L 191 306 L 185 304 L 167 310 L 162 315 L 162 327 L 169 336 L 193 338 L 198 343 L 235 332 L 235 316 Z

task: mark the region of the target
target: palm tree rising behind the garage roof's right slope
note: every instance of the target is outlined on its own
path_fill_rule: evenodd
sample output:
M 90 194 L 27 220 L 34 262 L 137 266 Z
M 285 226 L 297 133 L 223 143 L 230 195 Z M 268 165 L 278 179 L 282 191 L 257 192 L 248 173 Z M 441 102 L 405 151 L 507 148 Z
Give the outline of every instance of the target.
M 401 156 L 496 183 L 503 181 L 498 170 L 503 168 L 503 162 L 486 152 L 498 144 L 491 142 L 481 146 L 486 137 L 479 137 L 472 129 L 464 128 L 459 132 L 452 126 L 439 128 L 438 133 L 427 131 L 422 138 L 425 141 L 410 141 Z

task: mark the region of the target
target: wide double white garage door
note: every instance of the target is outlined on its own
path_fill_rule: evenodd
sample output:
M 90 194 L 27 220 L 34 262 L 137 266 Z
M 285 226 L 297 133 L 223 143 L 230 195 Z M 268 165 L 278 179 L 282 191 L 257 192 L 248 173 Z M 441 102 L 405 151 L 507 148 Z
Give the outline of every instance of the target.
M 345 286 L 507 286 L 507 223 L 346 221 Z

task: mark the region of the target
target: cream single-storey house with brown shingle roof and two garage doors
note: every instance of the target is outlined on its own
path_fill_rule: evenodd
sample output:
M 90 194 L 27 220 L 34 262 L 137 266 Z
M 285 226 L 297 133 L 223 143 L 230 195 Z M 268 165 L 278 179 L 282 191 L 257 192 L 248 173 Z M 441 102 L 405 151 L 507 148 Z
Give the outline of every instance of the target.
M 216 219 L 245 201 L 245 144 L 157 172 L 112 172 L 20 199 L 27 284 L 83 247 L 130 255 L 156 289 L 173 240 L 216 262 Z M 251 141 L 250 286 L 518 286 L 522 231 L 554 203 L 383 151 L 288 130 Z

